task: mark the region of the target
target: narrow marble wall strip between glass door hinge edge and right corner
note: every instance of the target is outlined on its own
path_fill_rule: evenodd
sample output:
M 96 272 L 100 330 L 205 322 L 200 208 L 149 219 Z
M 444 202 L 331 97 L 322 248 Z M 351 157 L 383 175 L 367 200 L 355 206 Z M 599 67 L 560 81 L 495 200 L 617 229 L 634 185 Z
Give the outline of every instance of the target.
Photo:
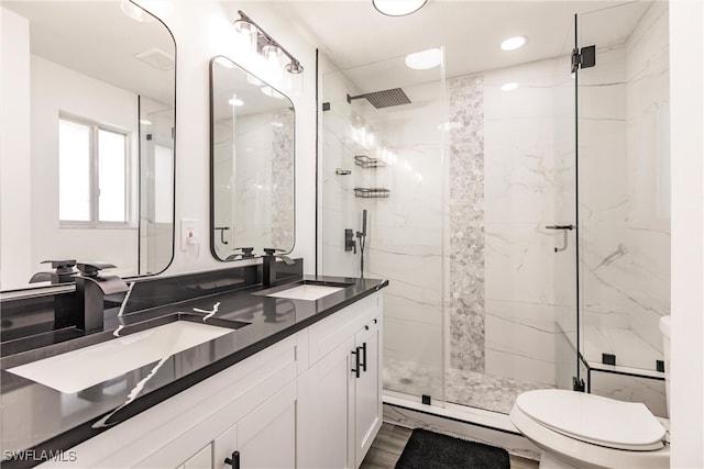
M 609 269 L 625 254 L 628 194 L 625 47 L 600 48 L 598 66 L 580 70 L 580 268 L 585 326 L 628 327 Z M 610 270 L 610 271 L 609 271 Z

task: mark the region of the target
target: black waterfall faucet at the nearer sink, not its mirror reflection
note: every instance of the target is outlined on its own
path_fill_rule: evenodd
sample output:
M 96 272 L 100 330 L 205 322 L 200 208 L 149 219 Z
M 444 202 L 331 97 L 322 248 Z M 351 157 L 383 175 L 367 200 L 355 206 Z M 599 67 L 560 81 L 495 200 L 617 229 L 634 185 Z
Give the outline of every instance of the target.
M 90 261 L 77 263 L 80 275 L 76 276 L 76 292 L 82 305 L 82 322 L 77 327 L 85 332 L 102 330 L 103 301 L 106 294 L 128 291 L 127 283 L 118 276 L 101 277 L 100 270 L 113 268 L 112 264 Z

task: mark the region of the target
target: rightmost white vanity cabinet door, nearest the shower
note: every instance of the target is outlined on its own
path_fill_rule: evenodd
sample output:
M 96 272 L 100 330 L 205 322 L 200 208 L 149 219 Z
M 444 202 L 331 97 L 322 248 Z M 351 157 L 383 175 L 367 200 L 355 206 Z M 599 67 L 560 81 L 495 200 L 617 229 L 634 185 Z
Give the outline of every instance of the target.
M 381 322 L 375 319 L 355 335 L 361 372 L 354 379 L 354 459 L 362 464 L 382 426 Z

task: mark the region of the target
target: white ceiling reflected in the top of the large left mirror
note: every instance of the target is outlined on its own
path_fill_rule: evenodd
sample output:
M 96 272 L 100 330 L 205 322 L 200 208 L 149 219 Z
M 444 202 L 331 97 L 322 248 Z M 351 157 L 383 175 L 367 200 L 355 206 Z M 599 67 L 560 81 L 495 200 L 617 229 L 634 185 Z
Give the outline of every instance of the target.
M 29 20 L 32 54 L 173 107 L 176 47 L 161 22 L 134 21 L 117 0 L 1 3 Z M 158 68 L 135 57 L 150 52 L 170 65 Z

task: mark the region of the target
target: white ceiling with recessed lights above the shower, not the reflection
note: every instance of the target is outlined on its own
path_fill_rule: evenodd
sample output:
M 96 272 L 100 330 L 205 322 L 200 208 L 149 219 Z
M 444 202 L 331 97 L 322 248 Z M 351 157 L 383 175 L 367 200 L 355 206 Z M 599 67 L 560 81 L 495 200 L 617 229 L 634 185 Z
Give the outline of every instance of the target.
M 414 14 L 392 18 L 378 13 L 371 0 L 278 3 L 339 69 L 349 78 L 355 76 L 362 91 L 372 91 L 380 70 L 393 74 L 393 63 L 403 67 L 406 54 L 431 47 L 444 46 L 448 78 L 566 56 L 574 45 L 575 14 L 581 15 L 580 27 L 590 32 L 584 41 L 598 47 L 623 44 L 649 5 L 647 1 L 429 0 Z M 502 41 L 515 35 L 527 36 L 526 46 L 502 51 Z

